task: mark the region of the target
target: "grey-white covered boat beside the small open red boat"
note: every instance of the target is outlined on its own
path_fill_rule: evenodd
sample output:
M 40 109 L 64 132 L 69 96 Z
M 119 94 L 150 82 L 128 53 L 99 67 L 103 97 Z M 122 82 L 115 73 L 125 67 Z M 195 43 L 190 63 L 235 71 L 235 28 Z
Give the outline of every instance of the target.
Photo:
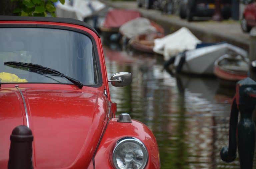
M 247 51 L 229 43 L 208 44 L 208 46 L 196 48 L 180 53 L 172 58 L 176 73 L 184 72 L 200 75 L 214 75 L 214 62 L 225 54 L 236 54 L 247 57 Z M 169 63 L 171 61 L 169 60 Z M 169 64 L 168 63 L 168 64 Z M 165 64 L 165 66 L 168 66 Z

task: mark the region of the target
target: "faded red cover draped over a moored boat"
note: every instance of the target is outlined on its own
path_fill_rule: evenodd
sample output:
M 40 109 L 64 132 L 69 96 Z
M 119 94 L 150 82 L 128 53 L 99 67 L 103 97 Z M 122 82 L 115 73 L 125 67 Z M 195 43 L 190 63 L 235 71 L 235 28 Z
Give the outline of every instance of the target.
M 103 26 L 106 28 L 119 28 L 124 23 L 138 17 L 141 17 L 141 14 L 135 10 L 113 9 L 108 12 Z

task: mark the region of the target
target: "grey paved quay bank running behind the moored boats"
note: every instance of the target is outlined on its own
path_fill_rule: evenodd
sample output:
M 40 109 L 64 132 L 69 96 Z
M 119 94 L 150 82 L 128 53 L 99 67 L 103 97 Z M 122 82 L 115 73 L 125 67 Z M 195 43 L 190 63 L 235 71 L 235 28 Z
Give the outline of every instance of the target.
M 187 27 L 198 39 L 203 42 L 228 42 L 249 51 L 249 34 L 243 33 L 240 23 L 233 20 L 216 22 L 211 20 L 202 20 L 187 22 L 178 16 L 163 15 L 158 10 L 147 10 L 138 8 L 136 1 L 105 1 L 106 5 L 113 8 L 136 9 L 142 16 L 161 25 L 165 34 L 170 34 L 182 27 Z

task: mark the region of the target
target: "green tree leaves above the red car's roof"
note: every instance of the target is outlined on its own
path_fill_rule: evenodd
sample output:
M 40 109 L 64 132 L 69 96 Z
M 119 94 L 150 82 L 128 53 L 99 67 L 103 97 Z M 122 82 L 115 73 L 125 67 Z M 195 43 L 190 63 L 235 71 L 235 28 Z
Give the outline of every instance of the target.
M 19 16 L 46 16 L 47 13 L 50 13 L 53 17 L 55 15 L 54 2 L 58 0 L 11 0 L 17 1 L 18 6 L 14 9 L 13 13 Z M 65 0 L 60 0 L 62 4 L 65 3 Z

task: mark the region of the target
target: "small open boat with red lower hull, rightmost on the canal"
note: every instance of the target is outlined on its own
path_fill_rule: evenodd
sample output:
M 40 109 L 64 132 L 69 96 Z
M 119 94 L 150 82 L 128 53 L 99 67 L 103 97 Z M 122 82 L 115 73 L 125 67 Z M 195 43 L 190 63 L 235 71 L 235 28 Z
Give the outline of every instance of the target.
M 247 77 L 249 59 L 240 55 L 225 54 L 214 63 L 214 74 L 222 85 L 235 84 Z

